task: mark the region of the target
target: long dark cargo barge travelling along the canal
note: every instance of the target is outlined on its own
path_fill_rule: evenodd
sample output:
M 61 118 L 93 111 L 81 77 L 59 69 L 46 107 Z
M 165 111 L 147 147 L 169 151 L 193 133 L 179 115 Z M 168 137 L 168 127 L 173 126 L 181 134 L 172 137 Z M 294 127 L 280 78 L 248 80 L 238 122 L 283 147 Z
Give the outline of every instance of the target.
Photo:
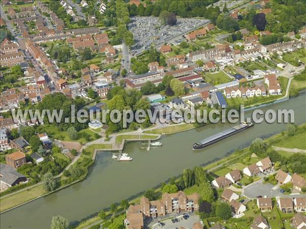
M 217 141 L 220 141 L 226 137 L 229 137 L 229 136 L 232 136 L 236 133 L 239 133 L 243 130 L 246 130 L 247 128 L 249 127 L 252 127 L 254 125 L 253 122 L 249 122 L 249 123 L 240 123 L 239 125 L 236 125 L 234 127 L 231 127 L 230 129 L 228 130 L 224 130 L 220 133 L 217 133 L 217 134 L 214 134 L 208 138 L 205 138 L 205 139 L 202 139 L 198 142 L 195 142 L 195 144 L 193 144 L 193 147 L 192 149 L 193 150 L 200 150 L 200 149 L 203 149 L 211 144 L 214 144 L 215 142 Z

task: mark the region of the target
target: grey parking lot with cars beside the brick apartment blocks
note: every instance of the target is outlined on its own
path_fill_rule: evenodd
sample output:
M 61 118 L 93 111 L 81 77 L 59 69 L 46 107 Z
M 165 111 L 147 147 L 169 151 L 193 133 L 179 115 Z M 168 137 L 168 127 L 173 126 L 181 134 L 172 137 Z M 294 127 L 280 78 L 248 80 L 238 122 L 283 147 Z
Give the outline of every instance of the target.
M 200 221 L 200 218 L 198 215 L 191 214 L 189 215 L 189 218 L 184 219 L 183 215 L 173 217 L 172 219 L 177 219 L 177 222 L 172 222 L 171 219 L 166 219 L 162 221 L 165 225 L 160 226 L 159 223 L 155 223 L 154 225 L 150 226 L 151 228 L 167 228 L 167 229 L 174 229 L 179 228 L 180 226 L 183 226 L 184 228 L 193 228 L 193 224 Z

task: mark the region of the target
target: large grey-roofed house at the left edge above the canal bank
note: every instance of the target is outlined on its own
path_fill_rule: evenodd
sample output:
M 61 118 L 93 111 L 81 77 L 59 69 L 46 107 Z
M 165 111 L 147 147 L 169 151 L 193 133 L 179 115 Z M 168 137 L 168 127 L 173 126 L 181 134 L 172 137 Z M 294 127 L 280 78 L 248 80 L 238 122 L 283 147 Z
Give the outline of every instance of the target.
M 19 174 L 15 168 L 6 164 L 0 164 L 0 181 L 1 188 L 3 184 L 12 187 L 20 182 L 27 182 L 27 178 L 23 174 Z

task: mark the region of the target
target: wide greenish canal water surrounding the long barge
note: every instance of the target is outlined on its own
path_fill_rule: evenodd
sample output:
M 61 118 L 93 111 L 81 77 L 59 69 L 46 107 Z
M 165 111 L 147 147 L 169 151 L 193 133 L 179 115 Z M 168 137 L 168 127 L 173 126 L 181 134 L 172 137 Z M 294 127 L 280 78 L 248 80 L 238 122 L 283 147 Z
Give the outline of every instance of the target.
M 293 109 L 295 123 L 304 123 L 306 95 L 265 107 L 263 110 L 267 109 Z M 113 203 L 180 175 L 184 168 L 222 158 L 238 148 L 248 146 L 256 137 L 268 137 L 286 129 L 286 124 L 264 122 L 203 150 L 192 150 L 195 141 L 233 125 L 215 124 L 165 136 L 160 139 L 164 145 L 149 152 L 141 149 L 141 142 L 130 142 L 125 145 L 123 152 L 128 152 L 133 157 L 132 162 L 117 162 L 111 159 L 111 152 L 99 152 L 85 180 L 1 214 L 1 228 L 49 228 L 50 220 L 55 215 L 76 223 Z

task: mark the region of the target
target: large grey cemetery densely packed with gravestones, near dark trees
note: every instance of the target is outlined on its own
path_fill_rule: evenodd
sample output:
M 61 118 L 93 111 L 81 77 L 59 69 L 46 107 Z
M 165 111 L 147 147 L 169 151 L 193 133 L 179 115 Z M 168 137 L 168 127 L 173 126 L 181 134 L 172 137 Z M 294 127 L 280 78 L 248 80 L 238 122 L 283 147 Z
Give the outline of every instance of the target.
M 131 17 L 128 27 L 135 39 L 133 54 L 147 49 L 153 42 L 155 45 L 163 44 L 207 22 L 208 19 L 177 18 L 176 25 L 170 26 L 161 24 L 158 17 Z

